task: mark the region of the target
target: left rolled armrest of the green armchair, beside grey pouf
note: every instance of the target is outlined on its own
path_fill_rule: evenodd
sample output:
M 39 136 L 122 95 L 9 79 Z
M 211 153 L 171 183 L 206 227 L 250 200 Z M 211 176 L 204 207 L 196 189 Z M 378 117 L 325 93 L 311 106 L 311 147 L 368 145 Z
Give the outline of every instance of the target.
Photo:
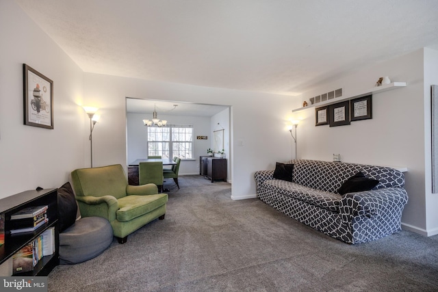
M 117 199 L 113 196 L 76 196 L 82 217 L 98 216 L 112 222 L 116 220 Z

